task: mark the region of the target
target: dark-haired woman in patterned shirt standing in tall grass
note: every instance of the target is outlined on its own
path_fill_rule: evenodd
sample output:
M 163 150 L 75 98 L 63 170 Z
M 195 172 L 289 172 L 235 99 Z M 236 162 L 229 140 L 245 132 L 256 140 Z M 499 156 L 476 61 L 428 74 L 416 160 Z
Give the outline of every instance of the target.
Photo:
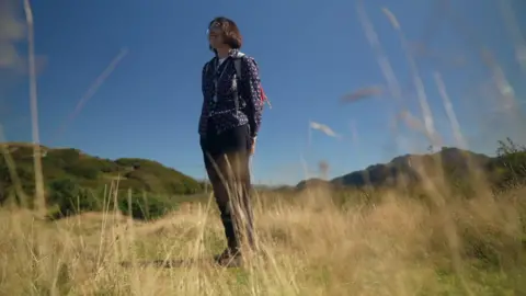
M 242 36 L 236 23 L 214 19 L 208 25 L 208 42 L 215 56 L 203 67 L 201 147 L 228 242 L 216 260 L 231 265 L 241 262 L 242 246 L 249 250 L 255 247 L 249 160 L 263 101 L 258 65 L 240 52 Z

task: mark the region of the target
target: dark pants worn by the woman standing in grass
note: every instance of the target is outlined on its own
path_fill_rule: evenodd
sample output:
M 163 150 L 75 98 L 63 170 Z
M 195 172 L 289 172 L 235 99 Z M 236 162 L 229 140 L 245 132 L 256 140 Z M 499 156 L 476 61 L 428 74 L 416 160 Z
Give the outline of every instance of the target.
M 248 125 L 219 135 L 208 133 L 201 139 L 206 171 L 231 252 L 239 252 L 244 243 L 254 248 L 249 169 L 251 145 Z

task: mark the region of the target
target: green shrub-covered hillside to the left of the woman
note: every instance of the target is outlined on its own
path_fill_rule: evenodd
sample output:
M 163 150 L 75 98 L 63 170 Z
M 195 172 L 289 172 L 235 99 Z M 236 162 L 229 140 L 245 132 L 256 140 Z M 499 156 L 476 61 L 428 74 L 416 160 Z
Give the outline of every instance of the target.
M 152 160 L 110 160 L 89 156 L 78 149 L 41 148 L 46 200 L 48 206 L 58 205 L 61 212 L 78 207 L 102 207 L 104 203 L 99 200 L 107 198 L 108 192 L 118 193 L 119 198 L 127 197 L 132 192 L 133 196 L 155 196 L 149 200 L 162 196 L 170 200 L 172 196 L 203 191 L 201 182 Z M 24 196 L 32 196 L 35 189 L 33 146 L 8 143 L 2 144 L 1 149 L 0 204 L 21 203 Z M 12 173 L 14 171 L 16 174 Z M 70 205 L 71 200 L 78 201 L 76 205 Z M 122 206 L 126 207 L 126 201 L 123 203 Z

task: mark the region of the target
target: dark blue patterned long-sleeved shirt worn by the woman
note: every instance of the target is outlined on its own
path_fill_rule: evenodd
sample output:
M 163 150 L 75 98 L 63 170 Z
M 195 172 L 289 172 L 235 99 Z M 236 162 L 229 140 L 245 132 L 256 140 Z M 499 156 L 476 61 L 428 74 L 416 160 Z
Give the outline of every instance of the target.
M 235 58 L 241 59 L 241 79 L 236 78 Z M 263 111 L 258 64 L 252 57 L 232 49 L 217 69 L 216 65 L 218 65 L 217 56 L 203 67 L 204 100 L 199 135 L 204 137 L 211 130 L 220 134 L 232 127 L 249 124 L 250 134 L 255 137 L 260 129 Z M 238 110 L 236 110 L 236 93 L 239 101 Z

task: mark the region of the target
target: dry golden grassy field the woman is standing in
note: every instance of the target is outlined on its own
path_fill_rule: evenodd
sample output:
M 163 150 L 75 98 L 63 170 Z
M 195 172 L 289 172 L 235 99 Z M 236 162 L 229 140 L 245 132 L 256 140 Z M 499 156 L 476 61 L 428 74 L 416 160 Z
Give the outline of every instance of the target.
M 260 196 L 262 255 L 243 269 L 211 264 L 224 247 L 213 203 L 144 223 L 112 209 L 54 223 L 3 209 L 0 294 L 525 295 L 525 193 Z

